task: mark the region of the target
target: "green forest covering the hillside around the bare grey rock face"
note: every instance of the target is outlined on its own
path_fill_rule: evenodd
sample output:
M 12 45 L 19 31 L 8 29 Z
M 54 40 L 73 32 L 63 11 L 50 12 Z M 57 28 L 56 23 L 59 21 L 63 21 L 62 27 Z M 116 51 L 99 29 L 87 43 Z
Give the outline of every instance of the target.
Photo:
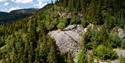
M 125 41 L 109 34 L 113 27 L 125 26 L 125 1 L 122 0 L 56 0 L 38 13 L 11 24 L 0 25 L 0 60 L 4 63 L 73 63 L 71 52 L 61 55 L 48 32 L 69 24 L 87 27 L 82 36 L 78 63 L 87 63 L 87 50 L 106 59 L 117 58 L 112 47 L 123 47 Z M 66 13 L 60 16 L 59 13 Z M 68 21 L 67 15 L 71 13 Z M 103 44 L 103 45 L 100 45 Z M 64 57 L 66 56 L 66 57 Z

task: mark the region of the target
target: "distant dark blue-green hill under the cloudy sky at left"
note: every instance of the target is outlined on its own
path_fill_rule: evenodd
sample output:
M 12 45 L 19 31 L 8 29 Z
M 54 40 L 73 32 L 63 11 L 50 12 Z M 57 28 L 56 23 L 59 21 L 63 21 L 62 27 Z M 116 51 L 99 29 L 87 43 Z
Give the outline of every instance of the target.
M 12 10 L 11 12 L 0 12 L 0 23 L 8 23 L 15 20 L 23 19 L 25 17 L 31 16 L 36 13 L 39 9 L 19 9 L 19 10 Z

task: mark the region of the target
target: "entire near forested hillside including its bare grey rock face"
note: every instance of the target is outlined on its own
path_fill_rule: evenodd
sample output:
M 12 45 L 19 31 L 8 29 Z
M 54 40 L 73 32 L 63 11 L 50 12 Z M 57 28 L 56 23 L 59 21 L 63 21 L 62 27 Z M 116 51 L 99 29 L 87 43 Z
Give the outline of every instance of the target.
M 124 3 L 56 0 L 30 17 L 0 25 L 0 62 L 125 63 Z

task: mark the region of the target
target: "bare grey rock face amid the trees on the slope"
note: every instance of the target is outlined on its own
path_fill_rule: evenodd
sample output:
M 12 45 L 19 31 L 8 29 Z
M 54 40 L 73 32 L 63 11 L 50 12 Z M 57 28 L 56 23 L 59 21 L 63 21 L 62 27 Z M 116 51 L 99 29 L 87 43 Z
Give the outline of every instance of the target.
M 71 52 L 72 56 L 79 50 L 80 34 L 84 32 L 81 25 L 69 25 L 63 31 L 55 30 L 49 32 L 49 36 L 56 41 L 56 45 L 62 53 Z

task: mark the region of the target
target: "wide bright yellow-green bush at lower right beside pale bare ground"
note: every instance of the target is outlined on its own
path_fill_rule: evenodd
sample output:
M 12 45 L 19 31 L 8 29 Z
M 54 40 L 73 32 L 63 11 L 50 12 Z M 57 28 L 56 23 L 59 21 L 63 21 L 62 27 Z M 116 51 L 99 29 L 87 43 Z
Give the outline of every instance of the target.
M 107 48 L 104 45 L 97 46 L 97 48 L 94 50 L 94 55 L 102 60 L 116 59 L 118 57 L 111 48 Z

